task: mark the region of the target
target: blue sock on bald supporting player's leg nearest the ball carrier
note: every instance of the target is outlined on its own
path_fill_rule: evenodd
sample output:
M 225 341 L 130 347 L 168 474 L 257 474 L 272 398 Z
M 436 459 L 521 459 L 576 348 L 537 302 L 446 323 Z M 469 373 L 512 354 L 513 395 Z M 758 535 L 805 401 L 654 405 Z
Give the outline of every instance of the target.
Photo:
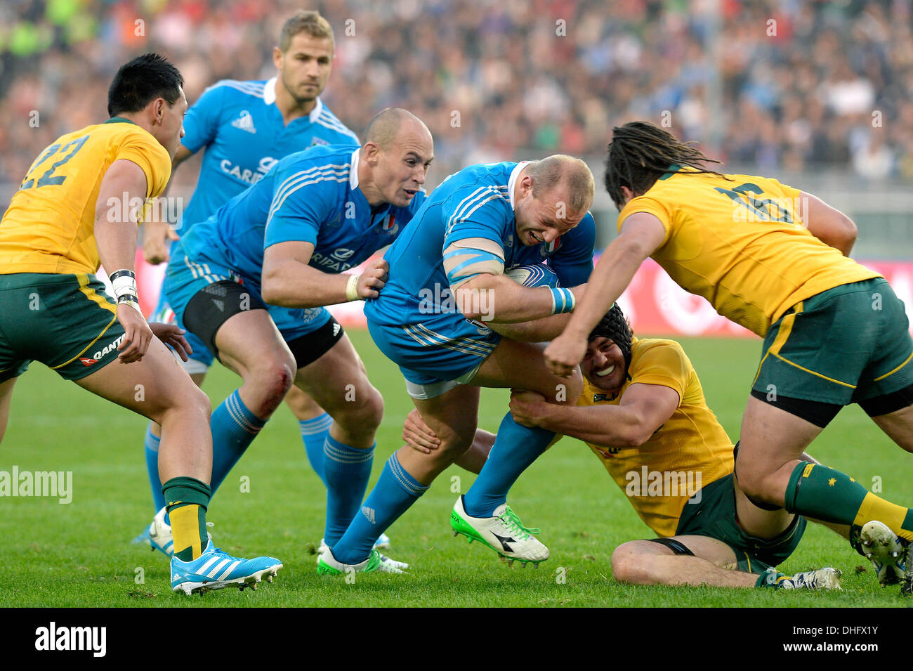
M 323 447 L 323 473 L 327 483 L 327 522 L 323 540 L 327 545 L 340 540 L 358 514 L 373 463 L 374 446 L 362 450 L 343 445 L 327 435 Z

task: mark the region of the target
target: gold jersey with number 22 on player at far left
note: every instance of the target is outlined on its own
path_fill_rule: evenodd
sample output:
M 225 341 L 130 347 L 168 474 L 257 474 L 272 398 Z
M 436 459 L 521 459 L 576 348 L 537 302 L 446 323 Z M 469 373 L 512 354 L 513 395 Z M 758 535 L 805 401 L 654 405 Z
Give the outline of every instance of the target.
M 161 194 L 171 158 L 148 131 L 114 117 L 58 138 L 28 169 L 0 222 L 0 274 L 94 273 L 95 205 L 111 163 L 124 159 L 146 174 L 146 198 Z M 123 216 L 123 204 L 116 215 Z

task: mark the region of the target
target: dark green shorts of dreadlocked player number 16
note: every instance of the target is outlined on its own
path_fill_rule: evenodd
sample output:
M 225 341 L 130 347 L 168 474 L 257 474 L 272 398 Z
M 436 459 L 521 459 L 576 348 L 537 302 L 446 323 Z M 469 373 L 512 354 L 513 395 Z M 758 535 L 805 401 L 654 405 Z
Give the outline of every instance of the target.
M 771 325 L 752 395 L 865 404 L 913 384 L 913 339 L 885 278 L 803 300 Z

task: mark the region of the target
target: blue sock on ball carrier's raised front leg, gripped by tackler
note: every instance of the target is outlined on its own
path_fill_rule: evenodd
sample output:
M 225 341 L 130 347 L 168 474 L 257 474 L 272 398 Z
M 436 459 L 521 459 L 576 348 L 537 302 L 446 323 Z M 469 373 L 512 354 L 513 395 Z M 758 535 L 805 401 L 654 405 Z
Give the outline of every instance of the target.
M 520 473 L 545 452 L 554 437 L 552 431 L 520 426 L 510 413 L 504 415 L 488 461 L 463 497 L 467 515 L 493 517 L 495 509 L 507 502 Z

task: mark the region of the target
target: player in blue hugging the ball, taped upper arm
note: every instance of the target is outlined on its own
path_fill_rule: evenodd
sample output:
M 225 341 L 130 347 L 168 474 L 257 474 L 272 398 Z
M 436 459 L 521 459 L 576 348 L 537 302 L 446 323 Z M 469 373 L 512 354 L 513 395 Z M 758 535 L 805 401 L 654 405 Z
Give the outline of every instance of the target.
M 432 480 L 472 446 L 479 387 L 538 391 L 573 404 L 580 371 L 568 380 L 545 367 L 541 345 L 502 338 L 510 324 L 542 320 L 530 341 L 565 323 L 593 267 L 593 174 L 571 156 L 474 165 L 440 184 L 385 255 L 390 275 L 365 305 L 368 328 L 403 372 L 406 389 L 441 441 L 432 454 L 403 447 L 387 461 L 361 514 L 320 554 L 318 571 L 373 571 L 374 539 Z M 527 288 L 504 276 L 548 259 L 562 288 Z M 550 317 L 554 315 L 553 317 Z M 553 433 L 505 415 L 485 467 L 452 513 L 456 531 L 500 555 L 535 564 L 549 550 L 507 506 L 510 486 Z

